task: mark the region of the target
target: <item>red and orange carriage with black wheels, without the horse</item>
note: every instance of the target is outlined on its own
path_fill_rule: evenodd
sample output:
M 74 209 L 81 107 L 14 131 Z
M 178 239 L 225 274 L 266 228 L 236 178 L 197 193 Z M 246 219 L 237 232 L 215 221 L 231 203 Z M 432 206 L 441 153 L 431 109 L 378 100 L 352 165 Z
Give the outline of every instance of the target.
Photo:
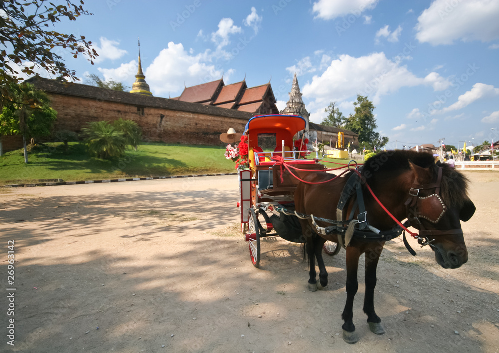
M 238 173 L 238 206 L 241 230 L 256 267 L 260 263 L 260 238 L 280 236 L 290 242 L 305 242 L 298 219 L 277 210 L 284 207 L 292 211 L 299 180 L 308 173 L 326 170 L 317 154 L 314 159 L 304 158 L 310 152 L 303 133 L 294 140 L 298 132 L 304 132 L 306 123 L 301 116 L 262 115 L 251 118 L 245 126 L 250 168 Z M 287 168 L 283 168 L 283 163 Z M 334 242 L 324 244 L 329 255 L 339 250 Z

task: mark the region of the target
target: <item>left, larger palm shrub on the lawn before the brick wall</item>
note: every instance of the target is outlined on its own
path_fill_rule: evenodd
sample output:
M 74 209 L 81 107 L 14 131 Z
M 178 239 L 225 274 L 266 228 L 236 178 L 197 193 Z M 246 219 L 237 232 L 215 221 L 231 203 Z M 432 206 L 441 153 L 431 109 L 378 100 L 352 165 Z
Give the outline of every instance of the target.
M 89 122 L 81 132 L 85 136 L 85 144 L 90 153 L 99 158 L 120 157 L 125 152 L 127 146 L 125 134 L 109 121 Z

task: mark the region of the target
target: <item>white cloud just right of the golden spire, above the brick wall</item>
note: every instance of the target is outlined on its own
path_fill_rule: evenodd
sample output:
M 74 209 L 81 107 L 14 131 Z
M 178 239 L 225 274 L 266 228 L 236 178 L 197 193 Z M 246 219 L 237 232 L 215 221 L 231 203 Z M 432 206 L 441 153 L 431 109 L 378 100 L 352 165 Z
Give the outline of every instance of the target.
M 186 86 L 214 81 L 222 77 L 229 80 L 233 70 L 223 72 L 209 63 L 209 55 L 189 54 L 179 43 L 168 43 L 168 48 L 160 51 L 151 65 L 145 70 L 146 81 L 151 92 L 158 96 L 179 95 Z

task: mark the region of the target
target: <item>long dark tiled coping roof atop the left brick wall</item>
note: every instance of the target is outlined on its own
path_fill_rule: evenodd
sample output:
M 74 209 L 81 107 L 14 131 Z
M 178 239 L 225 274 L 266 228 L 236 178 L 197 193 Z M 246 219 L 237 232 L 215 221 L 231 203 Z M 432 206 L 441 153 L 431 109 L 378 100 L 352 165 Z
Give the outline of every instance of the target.
M 34 76 L 27 80 L 36 88 L 48 93 L 58 93 L 82 98 L 95 99 L 98 101 L 110 101 L 123 104 L 130 104 L 142 107 L 152 107 L 179 111 L 188 111 L 199 114 L 209 114 L 227 116 L 237 119 L 250 119 L 253 114 L 237 111 L 234 109 L 224 109 L 211 105 L 182 102 L 175 99 L 146 96 L 142 94 L 113 91 L 111 89 L 88 86 L 79 83 L 62 83 L 56 80 Z

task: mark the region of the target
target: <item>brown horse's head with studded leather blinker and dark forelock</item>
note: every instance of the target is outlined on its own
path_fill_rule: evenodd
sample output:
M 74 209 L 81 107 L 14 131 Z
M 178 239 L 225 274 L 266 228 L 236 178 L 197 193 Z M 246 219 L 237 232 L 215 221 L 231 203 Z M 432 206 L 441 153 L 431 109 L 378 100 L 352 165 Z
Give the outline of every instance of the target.
M 426 168 L 409 164 L 414 185 L 406 204 L 408 219 L 443 268 L 458 268 L 468 261 L 460 220 L 468 221 L 475 212 L 466 193 L 467 179 L 445 164 Z

